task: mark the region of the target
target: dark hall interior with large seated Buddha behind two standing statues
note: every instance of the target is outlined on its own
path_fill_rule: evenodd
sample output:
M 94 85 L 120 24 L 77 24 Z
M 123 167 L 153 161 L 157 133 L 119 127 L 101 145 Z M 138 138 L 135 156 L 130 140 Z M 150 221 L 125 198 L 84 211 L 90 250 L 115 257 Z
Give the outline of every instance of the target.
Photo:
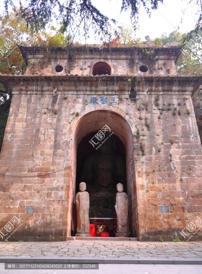
M 89 142 L 96 133 L 88 134 L 78 145 L 76 193 L 84 181 L 90 196 L 89 217 L 116 217 L 116 185 L 122 183 L 127 193 L 125 147 L 116 135 L 106 133 L 109 138 L 96 150 L 101 142 L 95 147 Z

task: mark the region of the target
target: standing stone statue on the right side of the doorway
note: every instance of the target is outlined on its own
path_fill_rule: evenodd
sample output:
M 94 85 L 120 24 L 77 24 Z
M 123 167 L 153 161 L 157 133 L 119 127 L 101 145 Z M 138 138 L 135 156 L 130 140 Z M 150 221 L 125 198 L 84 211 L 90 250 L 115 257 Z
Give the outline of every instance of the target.
M 117 229 L 116 237 L 130 237 L 131 233 L 128 224 L 128 196 L 123 192 L 123 185 L 117 184 L 116 189 L 116 215 L 117 215 Z

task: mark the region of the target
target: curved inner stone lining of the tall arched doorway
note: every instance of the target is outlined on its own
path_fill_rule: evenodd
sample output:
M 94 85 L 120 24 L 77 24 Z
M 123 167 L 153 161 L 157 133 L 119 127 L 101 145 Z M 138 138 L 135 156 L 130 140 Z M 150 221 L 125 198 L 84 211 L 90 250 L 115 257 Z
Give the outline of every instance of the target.
M 125 114 L 125 112 L 123 111 Z M 127 116 L 125 114 L 125 116 Z M 128 117 L 126 117 L 128 118 Z M 128 118 L 130 119 L 130 117 Z M 99 131 L 104 125 L 108 125 L 111 128 L 111 132 L 114 132 L 119 139 L 123 142 L 126 151 L 126 173 L 127 173 L 127 192 L 129 200 L 129 222 L 133 236 L 137 233 L 137 213 L 136 213 L 136 186 L 135 186 L 135 166 L 133 155 L 133 128 L 130 123 L 119 113 L 107 110 L 97 109 L 84 114 L 73 128 L 72 136 L 72 172 L 71 178 L 73 188 L 71 188 L 70 205 L 74 202 L 76 187 L 76 164 L 77 164 L 77 148 L 80 141 L 91 132 Z M 70 228 L 69 228 L 70 234 Z

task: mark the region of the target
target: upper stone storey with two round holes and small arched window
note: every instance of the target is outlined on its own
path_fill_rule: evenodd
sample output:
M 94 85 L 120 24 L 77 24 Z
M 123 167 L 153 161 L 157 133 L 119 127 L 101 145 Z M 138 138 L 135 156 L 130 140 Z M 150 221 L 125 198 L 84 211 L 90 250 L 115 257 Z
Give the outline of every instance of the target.
M 111 67 L 111 73 L 118 75 L 175 75 L 175 63 L 179 58 L 178 47 L 162 48 L 111 48 L 98 47 L 89 48 L 88 52 L 84 48 L 75 48 L 73 52 L 68 52 L 63 47 L 32 48 L 19 46 L 23 57 L 27 61 L 26 74 L 40 75 L 92 75 L 93 67 L 98 62 L 105 62 Z M 154 51 L 150 55 L 149 52 Z M 62 70 L 56 72 L 56 66 L 61 66 Z M 148 70 L 142 72 L 140 67 L 146 66 Z M 40 67 L 40 69 L 39 69 Z

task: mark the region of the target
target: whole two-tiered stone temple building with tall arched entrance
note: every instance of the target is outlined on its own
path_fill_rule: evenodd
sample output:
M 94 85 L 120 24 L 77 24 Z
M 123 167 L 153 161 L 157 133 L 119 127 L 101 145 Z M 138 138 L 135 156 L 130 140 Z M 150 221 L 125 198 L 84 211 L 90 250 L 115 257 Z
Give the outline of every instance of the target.
M 90 218 L 116 217 L 122 183 L 132 237 L 202 240 L 202 147 L 191 100 L 202 76 L 177 75 L 180 48 L 19 48 L 26 74 L 0 75 L 12 90 L 0 240 L 66 241 L 81 181 Z

